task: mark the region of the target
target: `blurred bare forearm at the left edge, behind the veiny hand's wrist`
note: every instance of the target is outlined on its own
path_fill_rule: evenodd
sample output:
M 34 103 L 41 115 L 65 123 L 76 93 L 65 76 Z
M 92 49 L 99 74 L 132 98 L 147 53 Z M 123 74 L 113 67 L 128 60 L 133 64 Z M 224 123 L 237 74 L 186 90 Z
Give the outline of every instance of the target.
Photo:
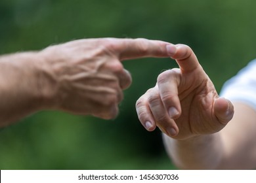
M 0 57 L 0 127 L 45 107 L 38 52 Z

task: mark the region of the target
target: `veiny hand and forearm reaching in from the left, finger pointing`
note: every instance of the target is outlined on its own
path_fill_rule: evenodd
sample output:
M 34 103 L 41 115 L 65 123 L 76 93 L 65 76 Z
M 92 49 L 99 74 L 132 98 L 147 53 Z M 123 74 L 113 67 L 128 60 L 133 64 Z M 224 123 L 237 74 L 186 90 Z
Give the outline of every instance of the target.
M 0 127 L 39 110 L 115 118 L 131 75 L 121 61 L 168 57 L 168 42 L 81 39 L 0 57 Z

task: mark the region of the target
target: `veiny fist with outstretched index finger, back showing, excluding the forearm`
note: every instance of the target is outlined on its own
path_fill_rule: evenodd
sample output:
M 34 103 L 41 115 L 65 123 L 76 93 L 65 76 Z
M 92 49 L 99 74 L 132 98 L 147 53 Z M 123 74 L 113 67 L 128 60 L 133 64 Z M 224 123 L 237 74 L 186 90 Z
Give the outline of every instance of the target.
M 83 39 L 41 51 L 42 92 L 47 105 L 110 119 L 118 113 L 131 75 L 121 61 L 168 57 L 167 42 L 147 39 Z M 45 87 L 46 86 L 46 87 Z

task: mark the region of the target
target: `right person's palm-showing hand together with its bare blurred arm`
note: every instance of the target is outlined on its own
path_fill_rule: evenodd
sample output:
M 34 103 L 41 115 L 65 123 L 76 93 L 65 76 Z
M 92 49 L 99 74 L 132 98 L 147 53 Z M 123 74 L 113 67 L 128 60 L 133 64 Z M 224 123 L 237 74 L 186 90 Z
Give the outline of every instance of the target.
M 138 99 L 141 124 L 148 131 L 161 129 L 179 169 L 254 169 L 256 111 L 219 97 L 191 48 L 167 47 L 179 69 L 161 73 Z

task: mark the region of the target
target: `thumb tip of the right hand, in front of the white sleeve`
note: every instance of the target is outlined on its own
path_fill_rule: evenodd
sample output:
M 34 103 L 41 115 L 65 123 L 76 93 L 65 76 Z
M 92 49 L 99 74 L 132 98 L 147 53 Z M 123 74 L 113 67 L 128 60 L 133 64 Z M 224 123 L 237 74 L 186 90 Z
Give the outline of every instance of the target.
M 222 124 L 227 124 L 234 115 L 234 106 L 224 97 L 219 97 L 214 103 L 215 116 Z

